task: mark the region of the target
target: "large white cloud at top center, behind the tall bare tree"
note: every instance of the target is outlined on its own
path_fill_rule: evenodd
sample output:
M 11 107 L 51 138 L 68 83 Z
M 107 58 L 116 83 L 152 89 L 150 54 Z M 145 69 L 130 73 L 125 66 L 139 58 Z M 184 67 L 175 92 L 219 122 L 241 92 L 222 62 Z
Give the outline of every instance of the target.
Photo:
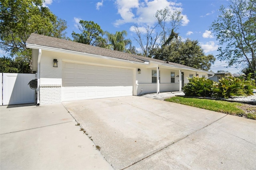
M 164 9 L 166 6 L 171 12 L 174 10 L 182 11 L 180 3 L 168 2 L 168 0 L 117 0 L 116 6 L 121 19 L 116 20 L 115 26 L 126 23 L 154 24 L 157 22 L 154 18 L 156 11 Z M 182 25 L 186 25 L 188 22 L 188 17 L 183 15 Z

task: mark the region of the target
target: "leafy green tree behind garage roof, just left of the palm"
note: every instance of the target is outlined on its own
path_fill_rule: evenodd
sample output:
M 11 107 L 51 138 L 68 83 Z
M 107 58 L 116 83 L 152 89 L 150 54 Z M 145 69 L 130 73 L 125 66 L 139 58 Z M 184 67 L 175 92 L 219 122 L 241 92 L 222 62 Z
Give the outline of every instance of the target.
M 95 45 L 104 47 L 106 40 L 103 38 L 104 31 L 100 26 L 93 21 L 80 20 L 78 29 L 82 32 L 80 34 L 72 32 L 74 42 L 85 43 L 89 45 Z

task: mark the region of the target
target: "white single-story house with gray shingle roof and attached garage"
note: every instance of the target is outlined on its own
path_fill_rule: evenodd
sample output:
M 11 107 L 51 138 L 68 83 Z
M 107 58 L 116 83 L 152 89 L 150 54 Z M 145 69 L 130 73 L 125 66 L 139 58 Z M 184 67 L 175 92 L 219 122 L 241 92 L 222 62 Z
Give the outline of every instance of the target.
M 37 105 L 181 91 L 186 77 L 214 73 L 83 43 L 31 34 Z

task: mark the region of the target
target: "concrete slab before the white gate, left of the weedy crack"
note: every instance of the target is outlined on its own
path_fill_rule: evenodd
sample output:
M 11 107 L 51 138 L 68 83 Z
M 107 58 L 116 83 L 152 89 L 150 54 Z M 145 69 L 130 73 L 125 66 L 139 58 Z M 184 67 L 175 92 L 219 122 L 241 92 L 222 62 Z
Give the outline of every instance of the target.
M 0 106 L 0 169 L 112 169 L 64 106 Z

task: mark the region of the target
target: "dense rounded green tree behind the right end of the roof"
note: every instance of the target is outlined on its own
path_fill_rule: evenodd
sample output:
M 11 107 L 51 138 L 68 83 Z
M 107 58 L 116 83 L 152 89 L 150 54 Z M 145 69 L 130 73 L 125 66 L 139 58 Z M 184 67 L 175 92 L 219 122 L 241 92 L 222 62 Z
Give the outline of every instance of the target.
M 156 51 L 154 58 L 206 71 L 210 69 L 215 61 L 215 57 L 212 54 L 204 54 L 198 41 L 190 39 L 185 42 L 178 39 L 170 42 L 169 45 L 162 46 Z

